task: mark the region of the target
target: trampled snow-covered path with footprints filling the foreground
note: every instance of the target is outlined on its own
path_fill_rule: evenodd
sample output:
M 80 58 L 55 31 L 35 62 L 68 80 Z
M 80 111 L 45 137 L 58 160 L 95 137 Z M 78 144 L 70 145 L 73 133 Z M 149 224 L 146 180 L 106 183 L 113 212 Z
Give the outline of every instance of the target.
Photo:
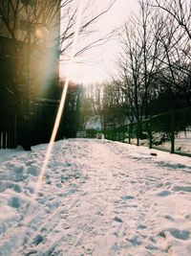
M 0 151 L 0 255 L 191 255 L 191 158 L 59 141 L 32 202 L 46 148 Z

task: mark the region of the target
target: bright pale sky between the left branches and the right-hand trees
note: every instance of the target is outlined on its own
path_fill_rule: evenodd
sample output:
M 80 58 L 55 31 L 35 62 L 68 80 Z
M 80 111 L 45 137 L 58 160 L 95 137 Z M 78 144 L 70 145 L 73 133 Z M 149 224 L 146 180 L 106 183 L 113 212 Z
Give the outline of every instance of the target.
M 111 0 L 96 0 L 96 9 L 104 9 Z M 95 6 L 94 6 L 95 8 Z M 114 29 L 120 33 L 120 28 L 128 20 L 132 12 L 138 11 L 136 0 L 117 0 L 113 8 L 96 23 L 98 35 L 107 34 Z M 110 79 L 111 74 L 117 73 L 117 53 L 119 38 L 110 39 L 105 44 L 92 48 L 80 58 L 75 58 L 72 65 L 60 63 L 60 77 L 69 74 L 70 80 L 77 83 L 94 83 Z

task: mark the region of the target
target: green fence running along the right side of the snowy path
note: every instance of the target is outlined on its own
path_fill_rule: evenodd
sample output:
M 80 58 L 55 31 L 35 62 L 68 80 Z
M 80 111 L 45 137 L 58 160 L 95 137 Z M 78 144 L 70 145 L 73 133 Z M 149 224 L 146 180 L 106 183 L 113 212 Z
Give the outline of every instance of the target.
M 107 139 L 191 156 L 191 107 L 104 130 Z

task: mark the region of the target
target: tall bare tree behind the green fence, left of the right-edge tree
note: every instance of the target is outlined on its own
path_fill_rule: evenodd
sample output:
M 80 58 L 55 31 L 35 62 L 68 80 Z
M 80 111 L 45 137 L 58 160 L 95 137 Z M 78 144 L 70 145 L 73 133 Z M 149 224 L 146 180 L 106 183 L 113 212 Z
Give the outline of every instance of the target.
M 140 16 L 124 26 L 119 58 L 120 86 L 129 99 L 129 107 L 137 121 L 148 116 L 148 102 L 154 75 L 159 72 L 159 38 L 161 23 L 148 3 L 139 2 Z

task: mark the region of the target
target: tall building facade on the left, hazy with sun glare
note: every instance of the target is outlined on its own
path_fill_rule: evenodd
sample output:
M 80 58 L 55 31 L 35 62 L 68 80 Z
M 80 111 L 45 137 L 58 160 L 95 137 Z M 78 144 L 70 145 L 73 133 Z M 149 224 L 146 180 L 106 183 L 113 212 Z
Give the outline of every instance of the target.
M 25 122 L 34 118 L 36 99 L 58 100 L 59 32 L 59 1 L 1 1 L 0 148 L 9 145 L 11 136 L 5 131 L 5 116 L 16 116 L 13 140 L 25 144 Z

